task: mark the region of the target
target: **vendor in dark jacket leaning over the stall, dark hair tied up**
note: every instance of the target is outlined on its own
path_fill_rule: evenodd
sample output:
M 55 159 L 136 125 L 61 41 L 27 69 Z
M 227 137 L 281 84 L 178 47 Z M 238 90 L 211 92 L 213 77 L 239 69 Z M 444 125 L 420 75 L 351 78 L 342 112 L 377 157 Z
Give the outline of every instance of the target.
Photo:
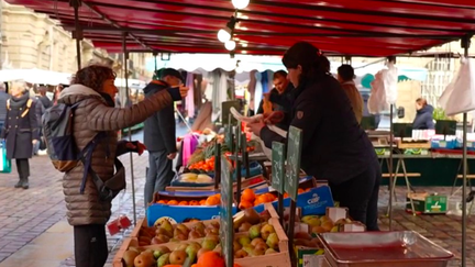
M 284 55 L 295 86 L 290 125 L 302 130 L 301 168 L 328 180 L 333 199 L 350 216 L 378 231 L 377 202 L 380 167 L 374 147 L 360 127 L 346 93 L 328 73 L 325 57 L 313 45 L 299 42 Z M 248 124 L 267 147 L 286 138 L 264 122 Z

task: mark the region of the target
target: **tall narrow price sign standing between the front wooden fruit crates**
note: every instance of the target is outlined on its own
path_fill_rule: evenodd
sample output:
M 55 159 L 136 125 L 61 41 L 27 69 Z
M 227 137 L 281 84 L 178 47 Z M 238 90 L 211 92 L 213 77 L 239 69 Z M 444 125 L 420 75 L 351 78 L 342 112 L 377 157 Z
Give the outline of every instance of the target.
M 232 218 L 233 181 L 231 166 L 225 158 L 221 158 L 221 211 L 220 211 L 220 236 L 222 255 L 227 267 L 233 267 L 234 253 L 234 226 Z

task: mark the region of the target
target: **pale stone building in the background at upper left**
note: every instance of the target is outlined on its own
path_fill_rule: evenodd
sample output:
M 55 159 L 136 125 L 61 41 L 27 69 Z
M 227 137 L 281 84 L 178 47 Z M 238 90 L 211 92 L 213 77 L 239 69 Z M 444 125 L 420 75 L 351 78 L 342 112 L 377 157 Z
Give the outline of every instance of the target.
M 58 26 L 56 20 L 36 13 L 22 5 L 9 4 L 3 0 L 1 12 L 0 67 L 38 68 L 73 74 L 77 70 L 76 41 L 71 33 Z M 145 70 L 147 54 L 131 54 L 129 78 L 152 77 Z M 111 66 L 123 77 L 122 54 L 108 54 L 93 46 L 89 40 L 81 41 L 81 66 L 99 63 Z

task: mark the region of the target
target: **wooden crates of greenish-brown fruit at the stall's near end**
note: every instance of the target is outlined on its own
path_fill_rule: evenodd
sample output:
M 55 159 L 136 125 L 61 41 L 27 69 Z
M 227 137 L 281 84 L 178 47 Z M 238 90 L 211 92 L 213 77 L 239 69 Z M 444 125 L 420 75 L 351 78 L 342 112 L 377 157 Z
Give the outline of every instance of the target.
M 281 262 L 285 265 L 280 266 L 288 266 L 287 243 L 280 243 L 280 237 L 287 237 L 278 219 L 270 214 L 267 210 L 258 214 L 254 209 L 236 214 L 234 229 L 238 233 L 233 240 L 234 267 L 256 266 L 250 260 L 266 255 L 284 257 Z M 152 227 L 142 226 L 136 240 L 124 242 L 126 247 L 119 255 L 119 260 L 121 266 L 126 267 L 224 267 L 219 227 L 218 220 L 176 225 L 163 221 Z M 285 249 L 286 253 L 280 253 L 280 249 Z M 264 262 L 268 263 L 267 260 Z

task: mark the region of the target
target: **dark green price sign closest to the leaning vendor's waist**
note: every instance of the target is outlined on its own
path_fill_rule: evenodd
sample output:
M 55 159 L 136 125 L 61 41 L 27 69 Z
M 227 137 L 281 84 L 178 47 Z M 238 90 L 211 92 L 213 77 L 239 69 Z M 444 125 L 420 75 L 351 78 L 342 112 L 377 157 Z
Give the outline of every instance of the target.
M 290 126 L 287 140 L 287 166 L 285 190 L 292 200 L 297 199 L 300 174 L 302 131 Z

